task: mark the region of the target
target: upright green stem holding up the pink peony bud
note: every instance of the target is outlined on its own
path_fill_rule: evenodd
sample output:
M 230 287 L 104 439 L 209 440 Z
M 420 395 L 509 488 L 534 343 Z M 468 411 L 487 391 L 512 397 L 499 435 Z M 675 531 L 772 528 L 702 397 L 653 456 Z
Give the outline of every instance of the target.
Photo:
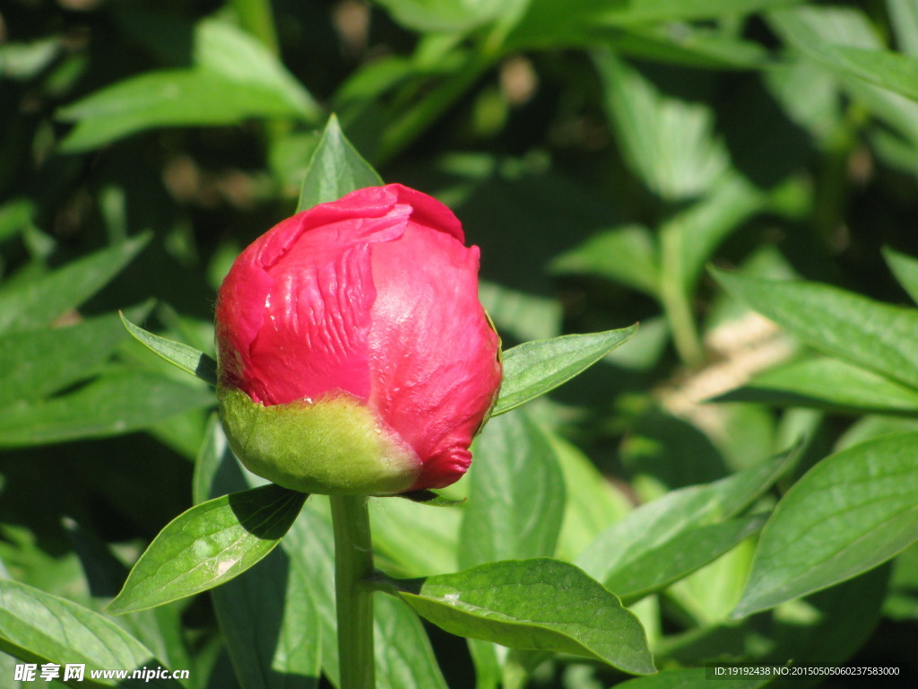
M 374 689 L 373 542 L 363 495 L 332 495 L 340 689 Z

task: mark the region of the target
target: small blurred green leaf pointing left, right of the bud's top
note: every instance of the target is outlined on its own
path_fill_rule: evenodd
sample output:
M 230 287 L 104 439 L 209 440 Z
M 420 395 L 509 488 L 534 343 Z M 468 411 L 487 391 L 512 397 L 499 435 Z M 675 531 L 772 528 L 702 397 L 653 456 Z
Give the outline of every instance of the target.
M 597 232 L 552 262 L 558 273 L 596 275 L 640 289 L 655 297 L 660 267 L 653 235 L 641 225 Z

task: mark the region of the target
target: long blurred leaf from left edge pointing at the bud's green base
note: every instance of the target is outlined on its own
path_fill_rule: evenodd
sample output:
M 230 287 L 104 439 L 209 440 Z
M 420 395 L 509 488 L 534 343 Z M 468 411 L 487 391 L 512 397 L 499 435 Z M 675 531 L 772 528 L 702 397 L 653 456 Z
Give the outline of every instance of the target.
M 7 407 L 0 414 L 0 447 L 122 435 L 213 403 L 210 390 L 120 370 L 62 397 Z

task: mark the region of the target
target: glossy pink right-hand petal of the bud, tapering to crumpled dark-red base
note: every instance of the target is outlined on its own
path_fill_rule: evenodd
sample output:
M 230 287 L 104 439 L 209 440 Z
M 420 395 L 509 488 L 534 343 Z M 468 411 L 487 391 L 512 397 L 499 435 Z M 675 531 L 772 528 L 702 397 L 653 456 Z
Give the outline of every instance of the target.
M 465 473 L 499 386 L 498 337 L 478 301 L 477 271 L 477 247 L 413 215 L 401 239 L 373 249 L 370 400 L 423 461 L 414 488 Z

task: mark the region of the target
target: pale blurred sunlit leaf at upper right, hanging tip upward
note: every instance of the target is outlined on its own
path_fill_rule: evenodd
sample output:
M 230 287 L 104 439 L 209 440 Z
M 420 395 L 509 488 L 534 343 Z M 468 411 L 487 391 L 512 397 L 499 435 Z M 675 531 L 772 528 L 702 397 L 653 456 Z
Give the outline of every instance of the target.
M 704 194 L 729 166 L 703 102 L 668 96 L 611 51 L 596 51 L 603 100 L 625 161 L 667 201 Z

